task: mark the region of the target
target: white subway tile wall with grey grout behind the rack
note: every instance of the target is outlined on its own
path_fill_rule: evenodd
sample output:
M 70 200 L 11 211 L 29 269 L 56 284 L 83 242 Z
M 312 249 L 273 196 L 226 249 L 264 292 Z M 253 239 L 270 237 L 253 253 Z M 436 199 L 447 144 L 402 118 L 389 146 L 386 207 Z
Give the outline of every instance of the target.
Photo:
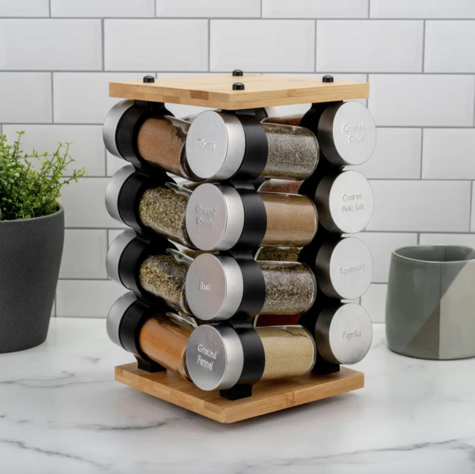
M 61 197 L 53 314 L 105 317 L 124 292 L 104 266 L 125 227 L 103 200 L 108 176 L 126 164 L 102 144 L 100 125 L 117 102 L 108 82 L 240 68 L 370 81 L 362 102 L 378 144 L 358 169 L 376 207 L 358 236 L 375 272 L 361 303 L 383 321 L 392 250 L 475 247 L 474 20 L 474 0 L 0 0 L 1 133 L 13 140 L 24 130 L 26 152 L 72 142 L 75 165 L 89 174 Z

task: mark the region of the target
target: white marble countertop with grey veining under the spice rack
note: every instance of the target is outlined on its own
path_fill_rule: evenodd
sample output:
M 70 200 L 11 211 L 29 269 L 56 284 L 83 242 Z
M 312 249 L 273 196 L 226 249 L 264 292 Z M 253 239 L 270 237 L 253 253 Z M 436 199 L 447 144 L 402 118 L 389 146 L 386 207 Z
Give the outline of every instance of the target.
M 45 344 L 0 354 L 0 472 L 475 472 L 475 359 L 393 354 L 382 324 L 354 366 L 364 389 L 231 425 L 115 382 L 132 360 L 97 319 L 53 318 Z

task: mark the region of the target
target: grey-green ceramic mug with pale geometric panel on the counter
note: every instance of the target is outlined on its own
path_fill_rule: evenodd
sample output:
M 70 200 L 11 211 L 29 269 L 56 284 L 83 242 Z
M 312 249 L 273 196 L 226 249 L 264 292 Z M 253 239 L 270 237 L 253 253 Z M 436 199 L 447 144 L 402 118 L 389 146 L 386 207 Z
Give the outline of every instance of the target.
M 420 359 L 475 356 L 475 250 L 403 247 L 391 255 L 386 297 L 389 349 Z

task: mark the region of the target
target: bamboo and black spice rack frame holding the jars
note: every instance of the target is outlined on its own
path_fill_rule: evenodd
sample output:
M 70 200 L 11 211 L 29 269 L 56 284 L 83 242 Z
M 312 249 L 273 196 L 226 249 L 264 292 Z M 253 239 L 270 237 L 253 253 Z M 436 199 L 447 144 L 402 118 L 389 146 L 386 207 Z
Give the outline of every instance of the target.
M 143 265 L 139 268 L 136 263 L 144 261 L 144 255 L 147 255 L 146 249 L 150 246 L 155 251 L 158 249 L 164 250 L 166 247 L 170 247 L 170 243 L 163 236 L 154 232 L 150 233 L 149 226 L 143 225 L 143 215 L 140 215 L 139 207 L 134 199 L 143 188 L 144 183 L 151 181 L 155 186 L 158 186 L 163 185 L 169 178 L 160 168 L 150 167 L 149 163 L 141 158 L 140 150 L 134 143 L 138 127 L 142 126 L 143 120 L 147 117 L 165 114 L 171 116 L 165 108 L 164 102 L 199 105 L 222 109 L 225 111 L 226 117 L 231 116 L 234 117 L 233 120 L 238 120 L 243 129 L 243 140 L 245 142 L 243 160 L 238 170 L 232 173 L 233 176 L 220 179 L 220 184 L 235 190 L 232 198 L 234 201 L 230 202 L 236 203 L 236 196 L 238 196 L 243 208 L 245 218 L 243 219 L 242 229 L 239 230 L 239 238 L 228 246 L 229 248 L 225 248 L 223 251 L 220 249 L 219 256 L 203 254 L 199 259 L 196 258 L 193 263 L 194 267 L 198 266 L 196 264 L 198 260 L 209 262 L 204 263 L 205 267 L 206 265 L 215 264 L 216 261 L 219 263 L 219 259 L 231 259 L 230 262 L 238 263 L 239 272 L 244 281 L 244 287 L 241 290 L 242 298 L 240 304 L 233 310 L 234 316 L 225 321 L 222 326 L 224 332 L 219 335 L 223 341 L 226 341 L 226 338 L 231 340 L 234 336 L 229 338 L 229 331 L 232 330 L 238 335 L 242 345 L 244 360 L 237 383 L 221 391 L 204 391 L 190 381 L 165 371 L 162 366 L 151 361 L 143 353 L 140 346 L 142 336 L 139 332 L 134 330 L 130 335 L 125 335 L 126 332 L 123 327 L 125 324 L 123 322 L 120 323 L 121 327 L 118 331 L 120 335 L 111 336 L 111 339 L 114 340 L 115 337 L 115 342 L 134 353 L 138 359 L 138 365 L 128 364 L 117 367 L 116 380 L 221 422 L 238 421 L 363 387 L 364 378 L 362 373 L 348 368 L 340 369 L 338 363 L 329 362 L 333 355 L 332 348 L 328 347 L 328 341 L 321 342 L 311 374 L 286 379 L 258 381 L 263 375 L 265 353 L 257 331 L 252 327 L 252 318 L 263 311 L 266 297 L 266 287 L 262 277 L 263 270 L 262 268 L 259 269 L 259 265 L 254 260 L 260 243 L 265 240 L 266 212 L 269 212 L 256 192 L 256 189 L 262 183 L 258 176 L 266 166 L 266 160 L 268 159 L 269 142 L 264 133 L 264 127 L 260 124 L 260 121 L 266 117 L 263 107 L 312 103 L 310 110 L 301 119 L 300 125 L 317 135 L 317 125 L 320 117 L 324 113 L 328 114 L 328 110 L 333 105 L 341 105 L 343 100 L 366 98 L 368 94 L 368 83 L 333 81 L 331 76 L 324 76 L 322 80 L 260 74 L 242 75 L 241 71 L 234 71 L 233 75 L 178 79 L 154 80 L 152 77 L 146 76 L 143 81 L 110 83 L 109 95 L 111 97 L 120 97 L 134 102 L 127 104 L 129 110 L 127 120 L 130 123 L 127 123 L 126 126 L 122 123 L 120 130 L 113 129 L 109 133 L 109 137 L 114 137 L 114 143 L 109 143 L 108 148 L 110 150 L 114 147 L 120 147 L 118 154 L 130 161 L 135 169 L 132 174 L 132 171 L 125 171 L 123 173 L 125 177 L 122 176 L 123 179 L 121 178 L 122 181 L 118 180 L 120 186 L 127 181 L 127 190 L 124 192 L 122 192 L 122 188 L 120 188 L 120 191 L 116 190 L 117 200 L 114 201 L 112 207 L 109 203 L 108 209 L 111 214 L 130 225 L 139 235 L 130 235 L 129 237 L 126 235 L 124 237 L 125 243 L 119 242 L 115 249 L 111 247 L 112 257 L 110 261 L 117 262 L 117 264 L 111 265 L 108 262 L 108 271 L 111 276 L 115 274 L 115 279 L 121 281 L 124 286 L 140 295 L 140 301 L 143 300 L 143 304 L 147 307 L 156 306 L 166 311 L 166 309 L 163 309 L 163 301 L 160 298 L 155 299 L 149 291 L 144 289 L 144 286 L 146 286 L 144 285 L 144 278 L 141 280 L 140 277 L 140 268 L 143 268 Z M 118 107 L 118 114 L 123 113 L 120 107 Z M 135 109 L 136 113 L 130 113 L 131 109 Z M 146 111 L 145 114 L 143 113 L 144 110 Z M 337 110 L 334 111 L 333 115 L 336 115 L 336 113 Z M 110 124 L 106 123 L 105 127 L 110 128 Z M 194 130 L 198 130 L 199 133 L 199 126 L 195 124 Z M 355 133 L 354 136 L 359 135 Z M 203 146 L 215 146 L 214 143 L 199 138 L 199 135 L 196 135 L 196 137 L 198 137 L 198 141 L 201 140 L 204 144 L 200 145 L 201 148 Z M 104 140 L 107 145 L 106 137 L 104 137 Z M 355 140 L 358 140 L 358 138 L 355 138 Z M 145 141 L 143 142 L 145 143 Z M 198 150 L 198 152 L 200 151 Z M 328 148 L 327 153 L 330 157 L 331 147 Z M 334 159 L 333 157 L 333 164 L 325 157 L 320 159 L 315 171 L 303 180 L 298 191 L 299 194 L 313 200 L 316 195 L 318 196 L 319 190 L 326 189 L 325 187 L 331 189 L 332 186 L 337 188 L 339 185 L 337 181 L 341 181 L 341 166 L 344 164 L 339 163 L 337 158 Z M 198 159 L 196 161 L 198 166 L 196 167 L 195 163 L 193 171 L 199 171 L 199 162 Z M 329 182 L 324 182 L 325 180 Z M 111 184 L 113 183 L 111 182 Z M 112 187 L 114 186 L 115 183 Z M 330 191 L 328 191 L 327 196 L 329 193 Z M 350 194 L 350 196 L 357 195 L 358 193 Z M 206 194 L 203 196 L 203 199 L 205 199 Z M 356 204 L 361 206 L 361 204 Z M 349 203 L 348 206 L 355 206 L 355 203 Z M 343 229 L 342 231 L 338 226 L 338 222 L 333 222 L 332 204 L 328 204 L 327 207 L 328 216 L 325 216 L 325 214 L 322 214 L 322 216 L 327 219 L 328 225 L 325 226 L 326 228 L 322 225 L 318 226 L 311 242 L 300 252 L 297 264 L 305 263 L 308 267 L 313 268 L 315 262 L 319 262 L 320 259 L 323 262 L 322 265 L 324 265 L 325 252 L 319 253 L 319 251 L 324 249 L 324 246 L 330 245 L 330 247 L 335 248 L 340 245 L 339 239 L 346 230 Z M 125 252 L 126 248 L 127 252 Z M 331 249 L 327 249 L 326 252 L 331 253 Z M 223 266 L 222 262 L 220 264 Z M 357 266 L 350 265 L 348 268 L 356 268 Z M 190 268 L 187 273 L 187 281 L 194 278 Z M 346 271 L 346 267 L 343 267 L 343 270 Z M 302 285 L 299 280 L 292 281 L 296 281 L 300 286 Z M 319 282 L 319 287 L 321 285 L 325 287 L 324 283 L 323 280 Z M 199 284 L 201 285 L 201 282 Z M 204 289 L 206 289 L 206 284 L 209 283 L 203 283 Z M 319 325 L 323 325 L 323 331 L 328 330 L 328 327 L 325 327 L 326 321 L 332 318 L 335 312 L 340 311 L 335 305 L 344 296 L 339 295 L 338 290 L 333 288 L 332 282 L 328 286 L 330 290 L 325 292 L 327 294 L 319 291 L 315 301 L 302 310 L 303 314 L 299 323 L 307 328 L 311 334 L 318 332 Z M 191 299 L 195 298 L 188 290 L 187 294 Z M 198 295 L 196 298 L 198 298 L 198 306 L 199 304 L 202 305 L 199 300 L 200 296 Z M 185 310 L 183 306 L 179 308 L 179 306 L 174 305 L 174 308 Z M 138 313 L 136 311 L 134 316 L 128 316 L 128 321 L 132 321 L 130 324 L 138 324 L 143 319 L 145 313 L 141 313 L 141 311 L 139 310 Z M 219 319 L 217 314 L 209 318 L 203 317 L 203 319 L 213 319 L 208 322 L 222 322 L 215 321 L 216 318 Z M 206 327 L 204 327 L 204 330 L 206 330 Z M 124 342 L 125 339 L 128 339 L 127 342 Z M 199 360 L 200 355 L 193 354 L 193 356 L 196 355 Z M 209 360 L 211 361 L 211 359 Z M 205 362 L 205 364 L 208 363 Z

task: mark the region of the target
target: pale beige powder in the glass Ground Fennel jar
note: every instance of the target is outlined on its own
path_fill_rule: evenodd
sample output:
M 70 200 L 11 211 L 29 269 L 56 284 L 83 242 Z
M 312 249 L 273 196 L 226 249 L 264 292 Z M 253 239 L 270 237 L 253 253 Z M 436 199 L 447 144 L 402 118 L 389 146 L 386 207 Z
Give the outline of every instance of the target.
M 315 365 L 317 350 L 310 332 L 302 326 L 256 327 L 266 362 L 261 380 L 298 377 Z

